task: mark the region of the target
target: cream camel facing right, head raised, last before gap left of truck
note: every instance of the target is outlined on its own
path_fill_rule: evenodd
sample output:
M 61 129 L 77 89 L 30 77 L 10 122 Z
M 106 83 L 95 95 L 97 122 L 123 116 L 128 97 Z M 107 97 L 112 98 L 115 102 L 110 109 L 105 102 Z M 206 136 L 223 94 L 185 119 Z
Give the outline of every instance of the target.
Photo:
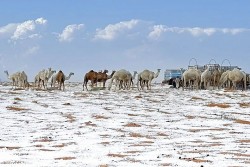
M 151 83 L 154 78 L 157 78 L 160 74 L 161 69 L 157 69 L 157 72 L 154 73 L 153 71 L 144 70 L 137 76 L 137 88 L 140 90 L 140 88 L 143 90 L 145 84 L 147 85 L 147 89 L 151 89 Z

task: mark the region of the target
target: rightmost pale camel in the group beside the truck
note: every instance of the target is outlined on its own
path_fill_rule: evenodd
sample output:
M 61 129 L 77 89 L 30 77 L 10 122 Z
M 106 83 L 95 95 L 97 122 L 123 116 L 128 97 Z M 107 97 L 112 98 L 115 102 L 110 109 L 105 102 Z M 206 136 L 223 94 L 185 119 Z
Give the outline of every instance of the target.
M 222 83 L 224 84 L 227 80 L 233 83 L 233 89 L 237 88 L 237 83 L 242 83 L 242 90 L 246 90 L 246 73 L 240 71 L 237 68 L 234 68 L 232 71 L 227 72 L 225 77 L 222 78 Z

